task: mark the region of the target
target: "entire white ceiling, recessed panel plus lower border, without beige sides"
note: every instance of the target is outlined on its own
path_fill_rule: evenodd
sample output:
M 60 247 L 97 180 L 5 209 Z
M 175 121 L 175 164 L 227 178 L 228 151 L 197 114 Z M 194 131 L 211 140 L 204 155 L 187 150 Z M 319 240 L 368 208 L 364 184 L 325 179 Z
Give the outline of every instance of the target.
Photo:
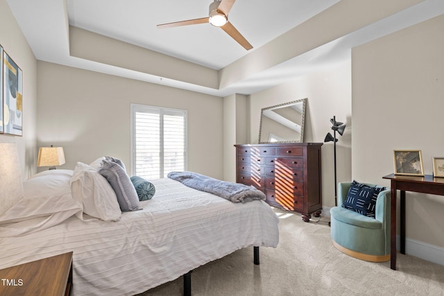
M 157 24 L 208 16 L 211 0 L 6 0 L 37 60 L 203 92 L 216 96 L 253 94 L 326 64 L 350 60 L 352 46 L 444 13 L 443 0 L 425 0 L 407 10 L 320 46 L 224 89 L 164 80 L 69 55 L 68 26 L 77 26 L 212 69 L 222 69 L 298 26 L 339 0 L 237 0 L 230 22 L 253 45 L 246 51 L 221 28 Z M 303 42 L 301 40 L 300 42 Z

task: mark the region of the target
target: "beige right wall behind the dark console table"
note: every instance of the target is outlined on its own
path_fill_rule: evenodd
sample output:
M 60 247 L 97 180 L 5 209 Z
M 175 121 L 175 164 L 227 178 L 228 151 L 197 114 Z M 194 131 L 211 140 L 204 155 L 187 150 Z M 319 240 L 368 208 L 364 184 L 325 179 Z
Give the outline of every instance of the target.
M 444 15 L 352 51 L 352 176 L 390 186 L 394 149 L 444 151 Z M 444 247 L 444 198 L 407 193 L 407 238 Z M 407 245 L 407 253 L 409 253 Z

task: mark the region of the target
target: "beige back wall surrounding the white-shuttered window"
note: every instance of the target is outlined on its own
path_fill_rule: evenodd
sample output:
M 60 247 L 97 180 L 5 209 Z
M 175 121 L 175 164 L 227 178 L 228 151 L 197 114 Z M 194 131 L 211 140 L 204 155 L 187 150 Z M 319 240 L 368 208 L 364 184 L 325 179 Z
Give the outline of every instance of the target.
M 37 144 L 63 146 L 67 163 L 112 155 L 130 173 L 130 103 L 187 110 L 188 170 L 223 177 L 223 99 L 38 62 Z

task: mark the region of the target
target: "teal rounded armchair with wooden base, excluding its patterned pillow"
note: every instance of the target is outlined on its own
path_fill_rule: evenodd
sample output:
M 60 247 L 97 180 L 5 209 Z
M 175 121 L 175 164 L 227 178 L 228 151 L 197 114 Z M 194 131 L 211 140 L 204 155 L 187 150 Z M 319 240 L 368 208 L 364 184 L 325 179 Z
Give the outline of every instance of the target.
M 390 189 L 379 193 L 375 218 L 370 218 L 341 207 L 350 184 L 351 182 L 338 184 L 338 206 L 330 209 L 334 247 L 361 260 L 372 262 L 390 260 Z

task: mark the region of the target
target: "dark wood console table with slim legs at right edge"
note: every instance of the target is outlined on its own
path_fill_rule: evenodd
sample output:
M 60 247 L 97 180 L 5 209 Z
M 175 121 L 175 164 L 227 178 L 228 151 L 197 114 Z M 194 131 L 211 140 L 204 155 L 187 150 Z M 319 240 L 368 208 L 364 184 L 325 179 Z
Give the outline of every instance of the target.
M 425 175 L 386 175 L 391 180 L 391 257 L 390 268 L 396 270 L 396 192 L 400 190 L 400 253 L 405 254 L 405 191 L 444 195 L 444 178 Z

